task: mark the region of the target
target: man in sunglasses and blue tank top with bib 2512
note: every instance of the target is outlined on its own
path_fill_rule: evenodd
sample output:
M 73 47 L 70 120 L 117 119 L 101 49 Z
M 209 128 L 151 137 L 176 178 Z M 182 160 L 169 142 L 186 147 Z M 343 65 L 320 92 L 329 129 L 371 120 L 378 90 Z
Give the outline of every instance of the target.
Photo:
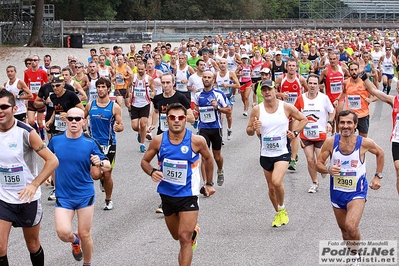
M 166 110 L 168 130 L 155 136 L 141 160 L 141 168 L 158 182 L 165 222 L 170 234 L 180 242 L 179 265 L 191 265 L 199 227 L 198 195 L 201 187 L 199 158 L 205 165 L 205 194 L 213 188 L 213 159 L 202 136 L 186 129 L 187 109 L 172 103 Z M 158 166 L 151 161 L 158 156 Z

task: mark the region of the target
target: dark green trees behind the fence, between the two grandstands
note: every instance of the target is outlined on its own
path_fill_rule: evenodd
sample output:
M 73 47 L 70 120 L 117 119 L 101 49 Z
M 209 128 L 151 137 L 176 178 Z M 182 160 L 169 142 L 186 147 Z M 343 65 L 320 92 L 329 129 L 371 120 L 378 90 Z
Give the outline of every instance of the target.
M 65 20 L 238 20 L 297 18 L 299 0 L 54 0 Z

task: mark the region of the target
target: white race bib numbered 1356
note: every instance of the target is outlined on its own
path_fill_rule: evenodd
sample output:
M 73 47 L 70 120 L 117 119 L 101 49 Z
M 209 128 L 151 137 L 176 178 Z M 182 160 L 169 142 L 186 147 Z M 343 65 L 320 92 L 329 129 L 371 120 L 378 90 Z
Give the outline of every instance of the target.
M 26 185 L 22 166 L 0 166 L 0 183 L 5 189 L 22 189 Z

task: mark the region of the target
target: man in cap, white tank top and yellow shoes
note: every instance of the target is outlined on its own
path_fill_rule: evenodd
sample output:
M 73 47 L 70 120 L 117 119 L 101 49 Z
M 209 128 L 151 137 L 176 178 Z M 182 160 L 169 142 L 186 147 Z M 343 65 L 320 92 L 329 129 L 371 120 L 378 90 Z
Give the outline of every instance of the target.
M 283 185 L 291 157 L 288 138 L 296 138 L 307 124 L 307 119 L 293 105 L 277 99 L 273 81 L 264 81 L 261 89 L 264 102 L 252 109 L 246 132 L 249 136 L 256 133 L 261 140 L 260 164 L 269 188 L 270 201 L 276 211 L 272 226 L 280 227 L 289 222 Z M 289 117 L 299 121 L 293 131 L 288 129 Z

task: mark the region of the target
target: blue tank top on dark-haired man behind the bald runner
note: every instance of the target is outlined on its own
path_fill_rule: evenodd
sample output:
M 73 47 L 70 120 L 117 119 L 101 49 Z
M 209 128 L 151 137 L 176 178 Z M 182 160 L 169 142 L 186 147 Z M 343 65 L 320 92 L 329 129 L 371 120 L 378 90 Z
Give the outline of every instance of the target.
M 110 101 L 105 107 L 99 107 L 97 100 L 91 103 L 89 111 L 90 132 L 100 145 L 116 145 L 113 108 L 113 101 Z

